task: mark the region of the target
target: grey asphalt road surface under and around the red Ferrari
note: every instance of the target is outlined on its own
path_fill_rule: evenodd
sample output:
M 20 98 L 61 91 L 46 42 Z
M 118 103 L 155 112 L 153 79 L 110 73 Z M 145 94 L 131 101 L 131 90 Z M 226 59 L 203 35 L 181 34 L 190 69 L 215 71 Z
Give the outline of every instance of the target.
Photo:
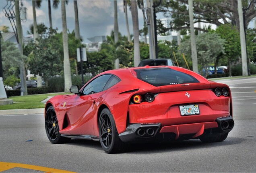
M 110 155 L 95 141 L 50 143 L 43 115 L 5 115 L 0 116 L 0 162 L 74 172 L 256 172 L 256 78 L 217 82 L 228 84 L 233 97 L 235 127 L 223 142 L 140 144 L 127 153 Z

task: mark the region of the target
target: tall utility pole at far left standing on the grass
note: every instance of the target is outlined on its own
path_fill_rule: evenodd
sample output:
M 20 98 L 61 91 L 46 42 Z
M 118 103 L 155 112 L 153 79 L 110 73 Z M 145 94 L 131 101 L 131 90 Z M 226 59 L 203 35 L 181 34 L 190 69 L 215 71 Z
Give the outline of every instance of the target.
M 14 1 L 15 4 L 15 13 L 16 13 L 16 25 L 17 25 L 17 35 L 19 42 L 19 49 L 21 51 L 21 55 L 23 55 L 23 34 L 22 34 L 22 26 L 21 26 L 21 18 L 20 18 L 20 6 L 19 1 Z M 25 71 L 25 63 L 24 60 L 21 60 L 20 64 L 20 74 L 21 74 L 21 95 L 27 95 L 27 84 L 26 84 L 26 71 Z

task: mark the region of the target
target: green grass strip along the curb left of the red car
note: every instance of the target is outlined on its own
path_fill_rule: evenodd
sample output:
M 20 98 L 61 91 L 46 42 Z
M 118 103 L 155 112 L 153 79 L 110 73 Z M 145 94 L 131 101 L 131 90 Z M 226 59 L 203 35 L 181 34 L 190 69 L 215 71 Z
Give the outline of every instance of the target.
M 48 96 L 54 95 L 64 95 L 70 93 L 50 93 L 50 94 L 40 94 L 40 95 L 27 95 L 27 96 L 15 96 L 9 97 L 8 99 L 12 99 L 12 105 L 1 105 L 0 110 L 6 109 L 35 109 L 35 108 L 44 108 L 45 104 L 41 103 L 41 101 L 47 99 Z

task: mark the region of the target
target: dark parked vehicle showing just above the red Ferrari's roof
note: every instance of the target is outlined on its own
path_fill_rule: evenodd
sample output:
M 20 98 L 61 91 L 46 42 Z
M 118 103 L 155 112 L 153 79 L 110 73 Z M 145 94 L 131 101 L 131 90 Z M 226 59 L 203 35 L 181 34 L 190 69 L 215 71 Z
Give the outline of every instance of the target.
M 172 60 L 167 58 L 159 58 L 159 59 L 146 59 L 140 61 L 138 66 L 159 66 L 159 65 L 167 65 L 167 66 L 175 66 Z

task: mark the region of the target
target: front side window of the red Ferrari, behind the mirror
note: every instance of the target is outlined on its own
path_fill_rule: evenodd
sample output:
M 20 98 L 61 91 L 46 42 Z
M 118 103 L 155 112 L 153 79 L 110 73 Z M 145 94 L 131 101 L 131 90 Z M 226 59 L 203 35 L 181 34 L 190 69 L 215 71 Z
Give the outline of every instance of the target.
M 83 89 L 83 94 L 89 95 L 89 94 L 99 93 L 103 91 L 103 88 L 105 87 L 110 77 L 111 75 L 105 74 L 95 78 L 93 81 L 87 84 L 87 86 Z

